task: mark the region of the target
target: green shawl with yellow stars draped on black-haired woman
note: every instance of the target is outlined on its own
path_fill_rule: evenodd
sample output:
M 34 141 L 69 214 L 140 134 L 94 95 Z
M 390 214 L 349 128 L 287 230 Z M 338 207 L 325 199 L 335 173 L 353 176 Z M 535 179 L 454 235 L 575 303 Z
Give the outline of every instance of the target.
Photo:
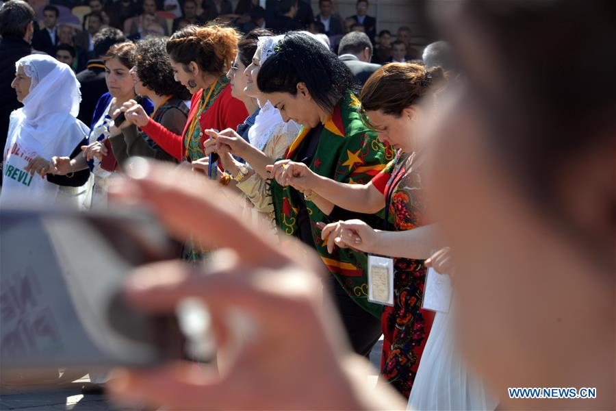
M 348 91 L 326 121 L 310 169 L 337 182 L 367 184 L 394 158 L 394 151 L 376 138 L 357 113 L 359 101 Z M 303 128 L 287 149 L 285 158 L 294 153 L 310 130 Z M 288 236 L 298 236 L 298 209 L 291 197 L 294 188 L 272 180 L 272 199 L 276 223 Z M 306 201 L 314 245 L 329 272 L 359 306 L 381 318 L 382 307 L 368 301 L 368 258 L 365 253 L 336 248 L 328 253 L 316 223 L 333 223 L 314 203 Z

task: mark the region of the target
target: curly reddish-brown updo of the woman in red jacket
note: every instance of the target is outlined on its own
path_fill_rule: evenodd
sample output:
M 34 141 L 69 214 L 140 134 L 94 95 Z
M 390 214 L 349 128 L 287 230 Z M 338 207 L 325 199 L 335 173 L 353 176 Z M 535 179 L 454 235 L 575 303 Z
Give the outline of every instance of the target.
M 199 69 L 216 75 L 227 73 L 238 53 L 240 33 L 233 27 L 210 23 L 189 25 L 178 30 L 167 41 L 167 53 L 188 71 L 188 64 L 196 62 Z

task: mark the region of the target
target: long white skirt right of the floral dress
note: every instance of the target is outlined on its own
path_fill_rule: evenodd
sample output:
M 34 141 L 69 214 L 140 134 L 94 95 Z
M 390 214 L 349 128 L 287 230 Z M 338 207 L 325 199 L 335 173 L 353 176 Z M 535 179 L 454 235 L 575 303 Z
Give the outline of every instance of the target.
M 453 306 L 453 304 L 452 304 Z M 494 410 L 495 397 L 468 369 L 454 343 L 451 311 L 437 312 L 409 397 L 409 410 Z

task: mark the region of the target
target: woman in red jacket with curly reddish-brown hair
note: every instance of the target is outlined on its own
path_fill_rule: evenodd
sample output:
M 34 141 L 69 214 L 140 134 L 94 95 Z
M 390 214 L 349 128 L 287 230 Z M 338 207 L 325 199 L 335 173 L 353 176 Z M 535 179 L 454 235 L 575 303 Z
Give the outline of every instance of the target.
M 248 116 L 242 101 L 231 97 L 231 85 L 225 77 L 238 53 L 240 35 L 231 27 L 190 25 L 171 36 L 167 53 L 175 79 L 192 93 L 188 120 L 181 136 L 153 121 L 134 101 L 125 103 L 126 119 L 177 160 L 194 161 L 205 157 L 205 129 L 238 126 Z

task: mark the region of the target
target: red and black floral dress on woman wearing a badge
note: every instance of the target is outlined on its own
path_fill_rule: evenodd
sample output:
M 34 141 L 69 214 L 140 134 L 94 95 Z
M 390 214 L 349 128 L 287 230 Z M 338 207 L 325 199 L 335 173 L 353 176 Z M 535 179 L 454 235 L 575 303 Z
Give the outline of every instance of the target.
M 389 230 L 404 231 L 425 224 L 426 203 L 418 165 L 414 153 L 399 152 L 396 160 L 373 179 L 374 186 L 385 195 L 393 218 Z M 424 260 L 394 258 L 394 306 L 386 306 L 381 315 L 381 379 L 407 398 L 434 319 L 432 312 L 421 310 L 425 279 Z

